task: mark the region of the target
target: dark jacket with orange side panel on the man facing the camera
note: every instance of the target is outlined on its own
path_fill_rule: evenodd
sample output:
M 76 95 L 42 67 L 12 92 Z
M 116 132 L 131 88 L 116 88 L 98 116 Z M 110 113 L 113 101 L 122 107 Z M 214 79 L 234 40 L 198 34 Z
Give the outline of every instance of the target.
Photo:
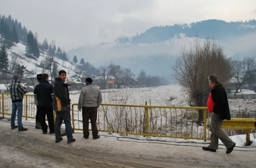
M 53 109 L 54 111 L 67 111 L 67 107 L 70 105 L 69 84 L 65 84 L 64 80 L 60 77 L 54 80 L 54 98 L 53 98 Z

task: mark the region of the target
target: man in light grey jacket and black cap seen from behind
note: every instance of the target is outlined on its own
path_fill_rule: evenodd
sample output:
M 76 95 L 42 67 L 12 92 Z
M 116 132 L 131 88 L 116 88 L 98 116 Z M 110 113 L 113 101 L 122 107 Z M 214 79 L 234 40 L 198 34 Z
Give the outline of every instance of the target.
M 102 102 L 101 91 L 93 85 L 93 79 L 90 77 L 85 80 L 86 87 L 82 89 L 79 96 L 78 109 L 83 115 L 83 137 L 89 138 L 89 119 L 93 131 L 93 139 L 98 139 L 97 128 L 97 109 Z

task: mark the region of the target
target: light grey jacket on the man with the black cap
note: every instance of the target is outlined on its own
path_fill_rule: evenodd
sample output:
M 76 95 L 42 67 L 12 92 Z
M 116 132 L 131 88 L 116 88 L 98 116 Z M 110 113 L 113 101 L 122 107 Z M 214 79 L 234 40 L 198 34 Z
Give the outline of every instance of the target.
M 90 84 L 84 87 L 80 92 L 78 109 L 81 109 L 82 107 L 99 107 L 101 102 L 101 91 Z

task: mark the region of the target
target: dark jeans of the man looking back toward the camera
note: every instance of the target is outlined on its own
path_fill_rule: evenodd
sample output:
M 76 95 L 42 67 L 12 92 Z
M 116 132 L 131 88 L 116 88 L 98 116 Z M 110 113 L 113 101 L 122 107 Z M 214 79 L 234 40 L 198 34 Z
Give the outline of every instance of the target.
M 56 140 L 61 139 L 60 126 L 63 120 L 65 123 L 68 141 L 71 141 L 73 139 L 73 135 L 72 135 L 72 127 L 71 127 L 70 107 L 68 107 L 68 111 L 56 112 L 56 119 L 55 119 L 55 139 Z

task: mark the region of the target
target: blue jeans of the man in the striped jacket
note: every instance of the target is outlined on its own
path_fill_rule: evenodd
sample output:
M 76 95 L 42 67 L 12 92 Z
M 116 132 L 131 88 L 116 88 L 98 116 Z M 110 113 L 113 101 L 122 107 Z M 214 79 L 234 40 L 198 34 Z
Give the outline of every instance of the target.
M 17 110 L 18 110 L 18 129 L 21 129 L 23 127 L 23 125 L 22 125 L 22 107 L 23 107 L 22 101 L 12 103 L 11 128 L 14 128 L 14 126 L 15 126 L 14 121 L 16 118 Z

